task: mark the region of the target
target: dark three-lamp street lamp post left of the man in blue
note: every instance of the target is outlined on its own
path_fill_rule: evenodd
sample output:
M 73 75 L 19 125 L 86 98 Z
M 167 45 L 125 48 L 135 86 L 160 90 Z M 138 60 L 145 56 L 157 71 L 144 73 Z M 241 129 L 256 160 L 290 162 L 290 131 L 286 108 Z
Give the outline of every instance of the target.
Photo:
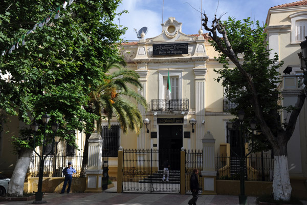
M 45 149 L 46 149 L 46 146 L 45 146 L 46 127 L 47 127 L 47 124 L 49 122 L 49 119 L 50 119 L 50 116 L 47 113 L 41 116 L 42 124 L 44 125 L 43 140 L 42 140 L 42 154 L 41 155 L 39 153 L 37 153 L 36 150 L 35 150 L 35 135 L 36 135 L 36 131 L 38 130 L 39 125 L 36 122 L 33 122 L 33 124 L 31 125 L 31 129 L 32 129 L 32 131 L 34 131 L 33 150 L 34 150 L 35 154 L 39 157 L 38 186 L 37 186 L 37 192 L 35 193 L 35 201 L 33 201 L 33 203 L 46 203 L 47 202 L 45 200 L 42 200 L 43 193 L 41 192 L 42 177 L 43 177 L 43 164 L 44 164 L 46 157 L 53 152 L 55 133 L 57 132 L 57 130 L 59 128 L 59 124 L 57 124 L 56 122 L 54 122 L 52 124 L 52 126 L 51 126 L 52 131 L 53 131 L 52 150 L 49 153 L 47 153 L 44 157 L 43 154 L 45 153 Z

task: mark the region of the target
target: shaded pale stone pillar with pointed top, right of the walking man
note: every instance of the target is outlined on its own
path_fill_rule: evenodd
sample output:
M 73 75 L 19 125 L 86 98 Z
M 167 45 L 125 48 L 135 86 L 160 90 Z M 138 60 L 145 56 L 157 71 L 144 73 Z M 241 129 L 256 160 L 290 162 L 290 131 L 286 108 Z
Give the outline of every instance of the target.
M 203 141 L 203 194 L 216 194 L 216 171 L 214 163 L 215 139 L 210 131 L 207 131 Z

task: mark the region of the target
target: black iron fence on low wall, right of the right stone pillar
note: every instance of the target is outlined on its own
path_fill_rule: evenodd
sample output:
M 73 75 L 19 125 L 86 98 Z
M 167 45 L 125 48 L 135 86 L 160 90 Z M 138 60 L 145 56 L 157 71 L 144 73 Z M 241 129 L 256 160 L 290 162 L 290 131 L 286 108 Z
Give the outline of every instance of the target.
M 239 158 L 216 156 L 217 179 L 239 180 Z M 252 154 L 245 159 L 245 179 L 249 181 L 272 181 L 274 159 L 269 154 Z

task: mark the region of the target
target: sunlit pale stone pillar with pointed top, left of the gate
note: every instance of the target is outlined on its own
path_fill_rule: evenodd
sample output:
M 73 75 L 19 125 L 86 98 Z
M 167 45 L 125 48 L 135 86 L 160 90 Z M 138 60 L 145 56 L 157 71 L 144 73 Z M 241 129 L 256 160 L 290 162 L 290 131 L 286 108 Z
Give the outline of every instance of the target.
M 102 192 L 102 142 L 98 133 L 89 138 L 89 156 L 87 161 L 86 187 L 84 192 Z

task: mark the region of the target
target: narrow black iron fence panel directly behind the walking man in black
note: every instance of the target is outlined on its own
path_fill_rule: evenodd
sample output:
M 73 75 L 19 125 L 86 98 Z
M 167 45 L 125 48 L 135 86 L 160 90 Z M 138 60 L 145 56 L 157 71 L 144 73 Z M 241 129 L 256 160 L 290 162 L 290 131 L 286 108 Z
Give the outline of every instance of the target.
M 203 169 L 203 151 L 202 150 L 188 150 L 185 153 L 186 155 L 186 164 L 185 164 L 185 172 L 186 172 L 186 192 L 191 192 L 190 190 L 190 178 L 193 173 L 193 169 L 198 169 L 199 173 Z M 202 177 L 198 176 L 199 187 L 202 188 Z M 199 191 L 202 193 L 202 190 Z

